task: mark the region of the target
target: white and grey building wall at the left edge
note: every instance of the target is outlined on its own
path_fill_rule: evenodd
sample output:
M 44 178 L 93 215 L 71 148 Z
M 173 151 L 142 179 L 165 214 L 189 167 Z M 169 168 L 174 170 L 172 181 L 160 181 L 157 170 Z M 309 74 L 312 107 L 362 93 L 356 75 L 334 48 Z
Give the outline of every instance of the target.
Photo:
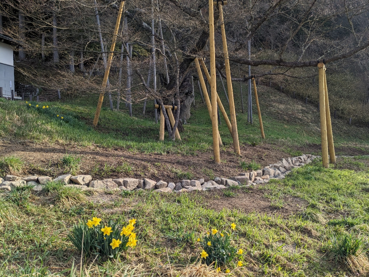
M 11 97 L 11 90 L 15 90 L 13 48 L 2 42 L 0 42 L 0 87 L 3 88 L 4 97 Z

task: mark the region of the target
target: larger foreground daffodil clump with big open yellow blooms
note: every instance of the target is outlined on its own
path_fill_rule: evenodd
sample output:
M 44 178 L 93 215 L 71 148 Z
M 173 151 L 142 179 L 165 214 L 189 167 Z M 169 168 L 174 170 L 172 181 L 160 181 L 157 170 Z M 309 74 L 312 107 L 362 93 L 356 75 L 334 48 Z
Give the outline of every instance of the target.
M 136 233 L 133 232 L 136 219 L 130 219 L 123 228 L 113 220 L 104 224 L 101 221 L 101 218 L 93 217 L 85 223 L 79 222 L 68 236 L 79 251 L 83 248 L 85 256 L 98 253 L 101 257 L 116 258 L 118 253 L 137 245 Z

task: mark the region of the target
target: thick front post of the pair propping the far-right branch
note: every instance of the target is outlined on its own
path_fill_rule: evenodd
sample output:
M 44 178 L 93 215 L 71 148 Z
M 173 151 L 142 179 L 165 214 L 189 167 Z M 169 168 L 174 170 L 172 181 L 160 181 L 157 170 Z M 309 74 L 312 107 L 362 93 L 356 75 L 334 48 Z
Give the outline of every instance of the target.
M 320 62 L 318 64 L 319 71 L 319 102 L 325 103 L 324 92 L 324 64 Z M 327 141 L 327 120 L 325 117 L 325 105 L 320 105 L 320 131 L 321 131 L 321 143 L 322 143 L 322 160 L 325 168 L 329 167 L 328 163 L 328 141 Z

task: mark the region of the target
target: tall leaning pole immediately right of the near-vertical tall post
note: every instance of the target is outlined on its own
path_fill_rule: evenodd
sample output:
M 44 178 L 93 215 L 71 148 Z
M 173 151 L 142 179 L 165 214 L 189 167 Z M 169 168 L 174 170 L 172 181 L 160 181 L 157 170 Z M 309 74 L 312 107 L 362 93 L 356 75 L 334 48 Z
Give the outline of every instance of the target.
M 234 99 L 233 99 L 231 69 L 230 69 L 230 61 L 229 61 L 229 57 L 228 57 L 227 38 L 225 37 L 223 7 L 222 7 L 221 2 L 218 2 L 218 7 L 219 7 L 220 27 L 221 27 L 221 31 L 222 31 L 223 51 L 224 51 L 224 60 L 225 60 L 225 73 L 226 73 L 226 76 L 227 76 L 228 98 L 229 98 L 229 104 L 230 104 L 233 148 L 234 148 L 235 153 L 240 155 L 241 151 L 239 149 L 239 142 L 238 142 L 237 120 L 236 120 L 236 112 L 235 112 Z M 215 61 L 214 61 L 214 63 L 215 63 Z

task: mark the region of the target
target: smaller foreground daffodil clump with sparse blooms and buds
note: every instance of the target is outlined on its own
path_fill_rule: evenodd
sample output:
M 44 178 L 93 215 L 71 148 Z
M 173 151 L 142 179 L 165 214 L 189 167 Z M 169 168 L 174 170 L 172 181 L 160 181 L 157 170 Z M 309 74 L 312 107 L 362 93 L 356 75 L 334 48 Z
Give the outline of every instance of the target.
M 230 229 L 236 230 L 236 224 L 232 223 Z M 232 231 L 218 231 L 217 229 L 211 229 L 207 231 L 203 238 L 198 238 L 197 242 L 201 245 L 201 261 L 207 265 L 213 264 L 217 272 L 223 271 L 224 273 L 230 273 L 230 269 L 227 269 L 227 265 L 234 262 L 237 257 L 237 266 L 243 266 L 242 253 L 243 249 L 236 249 L 232 246 Z M 233 263 L 232 263 L 233 264 Z M 223 268 L 223 270 L 222 270 Z

